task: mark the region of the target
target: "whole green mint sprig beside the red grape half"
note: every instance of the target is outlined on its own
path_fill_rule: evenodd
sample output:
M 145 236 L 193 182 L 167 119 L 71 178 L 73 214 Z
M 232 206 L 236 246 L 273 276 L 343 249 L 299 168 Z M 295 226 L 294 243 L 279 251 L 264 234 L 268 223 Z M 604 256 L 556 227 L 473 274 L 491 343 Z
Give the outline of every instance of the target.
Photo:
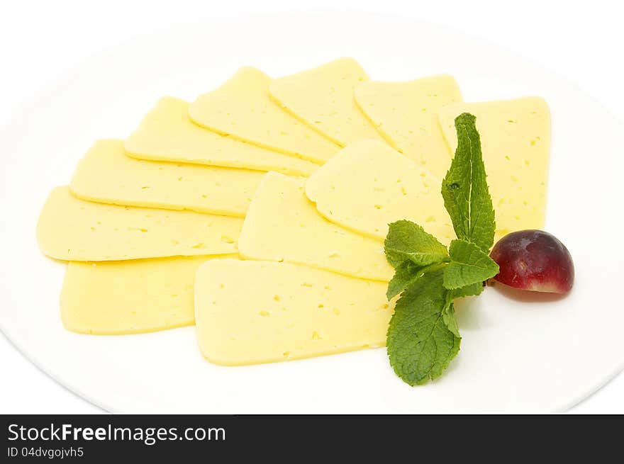
M 494 243 L 494 208 L 486 182 L 476 118 L 455 118 L 457 150 L 442 181 L 442 197 L 457 239 L 447 249 L 423 227 L 392 222 L 384 242 L 395 268 L 387 297 L 401 295 L 390 320 L 386 346 L 391 366 L 409 385 L 442 375 L 459 352 L 456 298 L 479 295 L 496 276 L 489 257 Z

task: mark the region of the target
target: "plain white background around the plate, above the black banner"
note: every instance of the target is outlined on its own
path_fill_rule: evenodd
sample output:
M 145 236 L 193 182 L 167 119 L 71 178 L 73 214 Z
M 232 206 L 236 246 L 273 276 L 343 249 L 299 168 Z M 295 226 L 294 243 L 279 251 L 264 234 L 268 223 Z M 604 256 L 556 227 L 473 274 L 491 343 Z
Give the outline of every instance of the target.
M 621 52 L 624 29 L 617 3 L 607 0 L 589 3 L 546 0 L 4 2 L 0 7 L 0 124 L 9 120 L 15 108 L 48 82 L 62 77 L 89 55 L 135 35 L 179 23 L 199 22 L 202 18 L 335 9 L 400 14 L 489 39 L 572 79 L 624 120 Z M 211 46 L 219 45 L 206 44 L 206 57 L 210 56 Z M 426 44 L 414 44 L 414 47 L 426 47 Z M 614 150 L 621 152 L 620 147 Z M 591 153 L 587 156 L 591 159 Z M 5 171 L 4 167 L 2 170 Z M 10 175 L 6 171 L 3 174 Z M 599 234 L 599 229 L 596 233 Z M 600 252 L 600 246 L 596 237 L 596 252 Z M 599 312 L 600 308 L 596 308 L 596 317 Z M 0 414 L 101 412 L 41 373 L 1 335 L 0 363 Z M 624 413 L 624 375 L 572 412 Z

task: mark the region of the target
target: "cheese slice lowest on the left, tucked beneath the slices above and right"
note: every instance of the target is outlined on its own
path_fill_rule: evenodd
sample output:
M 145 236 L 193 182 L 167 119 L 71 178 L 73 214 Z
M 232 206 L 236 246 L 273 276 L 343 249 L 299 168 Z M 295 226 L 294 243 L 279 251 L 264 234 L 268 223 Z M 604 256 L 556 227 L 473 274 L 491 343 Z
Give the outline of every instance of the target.
M 72 332 L 99 335 L 192 325 L 195 273 L 208 259 L 70 261 L 61 292 L 63 324 Z

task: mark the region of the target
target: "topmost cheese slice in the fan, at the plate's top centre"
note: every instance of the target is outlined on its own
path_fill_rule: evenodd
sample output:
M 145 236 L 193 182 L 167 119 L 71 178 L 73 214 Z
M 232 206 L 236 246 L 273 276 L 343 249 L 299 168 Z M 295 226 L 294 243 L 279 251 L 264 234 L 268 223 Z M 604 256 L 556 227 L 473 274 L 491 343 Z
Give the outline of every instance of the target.
M 344 146 L 364 138 L 383 140 L 353 98 L 355 86 L 368 80 L 357 61 L 341 58 L 275 79 L 269 91 L 286 111 Z

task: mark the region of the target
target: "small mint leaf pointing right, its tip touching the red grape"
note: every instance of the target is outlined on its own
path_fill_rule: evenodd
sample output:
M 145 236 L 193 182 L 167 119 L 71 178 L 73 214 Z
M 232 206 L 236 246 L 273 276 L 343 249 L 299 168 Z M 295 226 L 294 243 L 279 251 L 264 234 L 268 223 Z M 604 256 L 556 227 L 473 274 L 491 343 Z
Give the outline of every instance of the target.
M 453 240 L 449 256 L 451 262 L 444 269 L 444 286 L 450 290 L 482 283 L 498 274 L 498 264 L 474 243 Z

